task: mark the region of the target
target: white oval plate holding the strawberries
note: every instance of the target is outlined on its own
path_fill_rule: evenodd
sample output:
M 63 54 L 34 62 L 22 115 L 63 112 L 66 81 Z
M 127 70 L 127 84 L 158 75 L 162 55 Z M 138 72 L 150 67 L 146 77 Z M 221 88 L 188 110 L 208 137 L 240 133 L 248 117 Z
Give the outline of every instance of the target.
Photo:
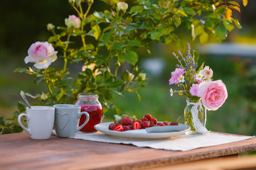
M 124 137 L 124 138 L 132 138 L 132 139 L 145 139 L 145 140 L 156 140 L 156 139 L 162 139 L 162 138 L 168 138 L 168 137 L 174 137 L 174 136 L 179 136 L 183 135 L 185 132 L 190 130 L 190 127 L 188 125 L 183 125 L 179 123 L 179 125 L 186 126 L 186 130 L 182 130 L 179 132 L 151 132 L 151 133 L 146 133 L 146 130 L 141 129 L 141 130 L 127 130 L 124 132 L 119 132 L 119 131 L 114 131 L 114 130 L 109 130 L 109 125 L 112 122 L 109 123 L 100 123 L 95 125 L 95 129 L 105 133 L 106 135 L 112 135 L 114 137 Z

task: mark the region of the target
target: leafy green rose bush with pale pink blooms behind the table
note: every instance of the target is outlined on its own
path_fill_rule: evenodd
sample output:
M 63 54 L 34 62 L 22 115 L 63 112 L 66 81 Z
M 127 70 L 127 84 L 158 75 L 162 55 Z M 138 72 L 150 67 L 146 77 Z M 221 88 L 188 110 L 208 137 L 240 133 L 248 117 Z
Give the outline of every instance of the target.
M 94 1 L 69 0 L 75 14 L 65 18 L 63 26 L 48 24 L 52 33 L 48 42 L 31 45 L 25 62 L 35 63 L 34 67 L 15 72 L 31 74 L 35 84 L 46 83 L 48 90 L 41 94 L 26 92 L 38 99 L 34 105 L 75 103 L 79 93 L 92 92 L 99 94 L 105 112 L 114 108 L 121 113 L 112 101 L 127 92 L 140 99 L 138 90 L 146 86 L 146 74 L 138 65 L 139 49 L 150 53 L 151 42 L 183 48 L 180 29 L 205 43 L 211 33 L 222 41 L 234 26 L 241 28 L 235 18 L 225 18 L 223 1 L 137 0 L 131 6 L 118 0 L 102 1 L 108 9 L 91 11 Z M 53 47 L 62 68 L 50 66 L 57 58 Z M 83 66 L 81 72 L 70 69 L 74 63 Z M 125 64 L 131 69 L 121 69 Z M 186 77 L 178 78 L 184 81 Z

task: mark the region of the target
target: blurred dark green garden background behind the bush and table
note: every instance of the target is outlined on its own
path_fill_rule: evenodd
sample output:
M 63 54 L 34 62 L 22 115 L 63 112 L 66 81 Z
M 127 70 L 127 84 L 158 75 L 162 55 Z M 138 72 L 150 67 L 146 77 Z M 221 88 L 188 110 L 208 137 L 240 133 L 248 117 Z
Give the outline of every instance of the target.
M 241 2 L 241 1 L 238 1 Z M 127 1 L 129 3 L 129 1 Z M 108 6 L 95 1 L 94 10 L 102 11 Z M 178 30 L 183 45 L 200 52 L 199 64 L 205 62 L 213 69 L 213 79 L 222 79 L 228 89 L 228 99 L 218 111 L 208 111 L 208 130 L 230 132 L 241 135 L 256 135 L 256 1 L 249 0 L 241 13 L 235 12 L 242 29 L 234 29 L 227 40 L 218 44 L 210 38 L 208 45 L 192 42 L 191 33 Z M 93 11 L 93 10 L 92 10 Z M 32 77 L 13 73 L 16 67 L 27 67 L 24 57 L 28 47 L 36 41 L 46 41 L 50 36 L 46 25 L 64 26 L 64 18 L 75 14 L 68 1 L 1 1 L 0 5 L 0 117 L 11 118 L 16 111 L 16 103 L 21 101 L 19 92 L 41 93 L 46 86 L 33 85 Z M 217 43 L 217 44 L 215 44 Z M 215 48 L 215 45 L 220 45 Z M 228 46 L 225 46 L 228 45 Z M 152 52 L 140 50 L 139 66 L 147 73 L 148 86 L 140 89 L 142 100 L 136 94 L 126 94 L 114 103 L 128 115 L 141 118 L 150 113 L 158 120 L 183 122 L 186 99 L 175 94 L 170 96 L 170 74 L 175 69 L 176 60 L 171 52 L 178 49 L 175 44 L 151 44 Z M 186 49 L 182 50 L 184 54 Z M 153 64 L 152 64 L 153 63 Z M 80 67 L 79 67 L 80 68 Z M 71 69 L 78 69 L 76 66 Z M 72 71 L 72 70 L 70 70 Z M 33 101 L 28 98 L 29 101 Z M 114 111 L 105 113 L 105 120 L 114 119 Z

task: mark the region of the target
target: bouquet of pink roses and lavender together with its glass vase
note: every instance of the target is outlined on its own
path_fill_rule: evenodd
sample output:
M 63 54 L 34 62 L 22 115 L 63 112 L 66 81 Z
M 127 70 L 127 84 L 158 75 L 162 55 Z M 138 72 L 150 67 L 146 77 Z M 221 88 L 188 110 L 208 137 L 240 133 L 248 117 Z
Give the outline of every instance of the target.
M 198 52 L 191 52 L 187 44 L 188 55 L 183 57 L 178 50 L 178 55 L 173 52 L 178 60 L 176 69 L 171 72 L 169 84 L 176 84 L 181 90 L 170 90 L 171 96 L 178 93 L 186 97 L 186 108 L 184 110 L 185 124 L 191 127 L 191 134 L 206 133 L 206 110 L 216 111 L 228 98 L 228 91 L 223 81 L 213 81 L 213 70 L 204 67 L 204 63 L 198 68 Z M 205 107 L 203 109 L 202 107 Z M 205 111 L 204 111 L 205 110 Z

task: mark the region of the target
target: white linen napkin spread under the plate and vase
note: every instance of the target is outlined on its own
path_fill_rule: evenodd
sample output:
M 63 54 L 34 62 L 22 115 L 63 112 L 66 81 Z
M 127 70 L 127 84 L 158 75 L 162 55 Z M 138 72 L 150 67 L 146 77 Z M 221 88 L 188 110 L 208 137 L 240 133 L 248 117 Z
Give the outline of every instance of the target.
M 171 137 L 164 140 L 136 140 L 113 137 L 110 135 L 105 135 L 102 132 L 77 132 L 75 134 L 75 137 L 70 138 L 78 140 L 90 140 L 97 142 L 134 145 L 137 147 L 151 147 L 154 149 L 188 151 L 200 147 L 210 147 L 230 142 L 238 142 L 240 140 L 250 139 L 251 137 L 252 136 L 223 135 L 215 132 L 209 132 L 206 135 L 181 135 L 178 137 Z

